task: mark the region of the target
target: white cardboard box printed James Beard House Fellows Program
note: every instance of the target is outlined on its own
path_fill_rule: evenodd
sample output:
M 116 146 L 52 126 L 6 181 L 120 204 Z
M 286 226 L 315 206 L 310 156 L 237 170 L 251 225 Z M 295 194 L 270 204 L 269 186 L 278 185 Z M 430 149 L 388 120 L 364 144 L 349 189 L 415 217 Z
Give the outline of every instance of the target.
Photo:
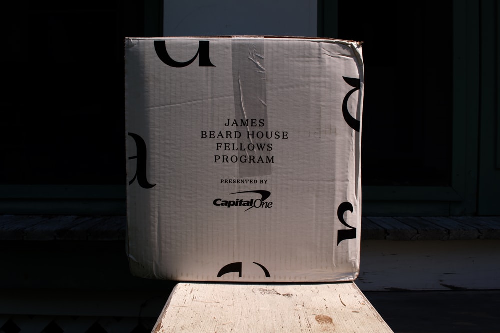
M 128 38 L 125 63 L 132 274 L 357 277 L 360 43 Z

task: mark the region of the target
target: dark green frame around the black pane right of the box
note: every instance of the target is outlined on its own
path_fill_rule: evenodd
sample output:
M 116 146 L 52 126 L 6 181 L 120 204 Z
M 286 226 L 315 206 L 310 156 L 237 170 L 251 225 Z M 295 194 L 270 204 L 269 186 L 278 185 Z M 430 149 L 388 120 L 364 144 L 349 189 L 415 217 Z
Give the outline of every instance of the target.
M 451 185 L 363 186 L 364 216 L 477 213 L 480 6 L 474 1 L 456 0 L 452 11 L 453 57 L 444 60 L 453 62 Z M 318 36 L 336 37 L 337 17 L 337 0 L 319 0 Z

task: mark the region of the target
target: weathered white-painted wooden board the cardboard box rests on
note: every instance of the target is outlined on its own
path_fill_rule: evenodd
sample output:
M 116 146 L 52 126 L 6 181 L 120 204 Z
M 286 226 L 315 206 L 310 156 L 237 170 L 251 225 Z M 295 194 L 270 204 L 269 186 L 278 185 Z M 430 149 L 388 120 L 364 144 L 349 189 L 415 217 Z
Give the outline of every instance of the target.
M 352 282 L 179 283 L 152 332 L 392 332 Z

